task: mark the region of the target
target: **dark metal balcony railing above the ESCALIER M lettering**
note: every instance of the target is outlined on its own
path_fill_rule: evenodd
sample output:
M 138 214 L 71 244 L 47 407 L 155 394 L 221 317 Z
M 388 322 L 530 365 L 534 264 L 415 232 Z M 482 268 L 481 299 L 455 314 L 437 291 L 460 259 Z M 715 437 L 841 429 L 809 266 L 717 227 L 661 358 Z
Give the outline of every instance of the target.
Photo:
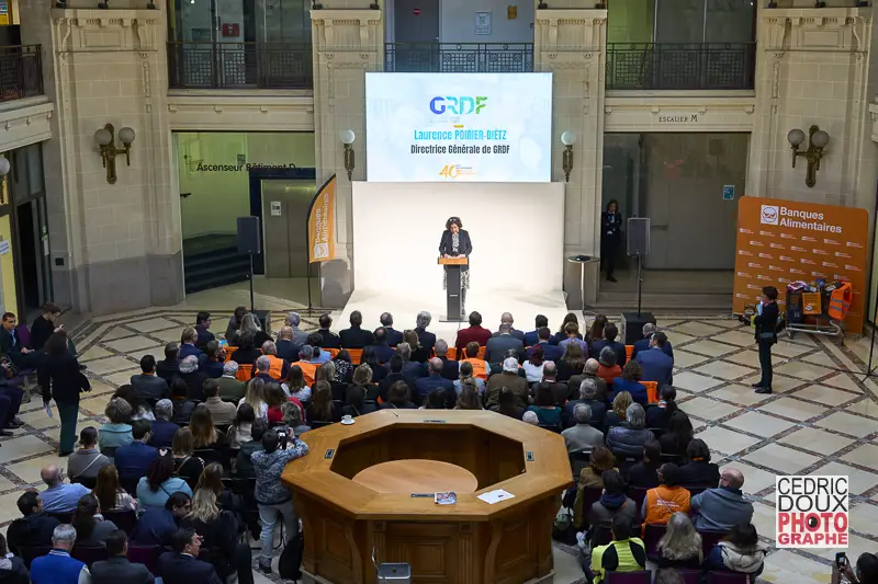
M 755 43 L 609 43 L 607 89 L 753 89 Z

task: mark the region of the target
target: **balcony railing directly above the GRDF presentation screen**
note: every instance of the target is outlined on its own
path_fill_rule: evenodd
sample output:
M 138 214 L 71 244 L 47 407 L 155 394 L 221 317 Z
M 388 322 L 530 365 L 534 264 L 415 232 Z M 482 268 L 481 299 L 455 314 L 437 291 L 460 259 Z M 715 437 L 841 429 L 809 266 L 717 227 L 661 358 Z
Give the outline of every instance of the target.
M 387 43 L 391 72 L 521 73 L 533 70 L 532 43 Z

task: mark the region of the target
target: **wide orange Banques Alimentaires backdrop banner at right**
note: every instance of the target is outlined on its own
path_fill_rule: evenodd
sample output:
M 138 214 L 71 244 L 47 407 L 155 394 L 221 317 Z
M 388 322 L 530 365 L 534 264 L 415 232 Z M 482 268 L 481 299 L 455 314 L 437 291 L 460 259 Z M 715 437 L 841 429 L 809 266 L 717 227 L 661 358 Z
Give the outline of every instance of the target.
M 775 286 L 786 308 L 787 284 L 818 278 L 845 279 L 854 301 L 845 330 L 863 332 L 866 299 L 866 209 L 773 198 L 741 197 L 738 203 L 738 256 L 734 304 L 740 313 L 759 301 L 764 286 Z

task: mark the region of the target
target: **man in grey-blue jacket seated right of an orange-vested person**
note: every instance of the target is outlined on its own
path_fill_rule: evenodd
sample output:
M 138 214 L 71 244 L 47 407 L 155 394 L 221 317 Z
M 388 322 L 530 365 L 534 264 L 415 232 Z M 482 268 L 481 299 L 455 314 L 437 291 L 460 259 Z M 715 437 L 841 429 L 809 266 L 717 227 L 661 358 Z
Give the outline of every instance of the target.
M 693 497 L 691 511 L 695 527 L 701 530 L 729 531 L 738 524 L 753 518 L 753 503 L 744 497 L 744 474 L 734 468 L 724 468 L 720 485 Z

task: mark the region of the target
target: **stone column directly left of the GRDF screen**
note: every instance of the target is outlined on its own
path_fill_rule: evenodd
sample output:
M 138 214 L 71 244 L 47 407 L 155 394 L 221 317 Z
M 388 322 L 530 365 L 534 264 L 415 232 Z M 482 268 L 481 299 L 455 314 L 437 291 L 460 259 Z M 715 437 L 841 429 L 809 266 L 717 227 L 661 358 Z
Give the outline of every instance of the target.
M 368 0 L 346 9 L 312 10 L 314 42 L 314 142 L 317 183 L 338 174 L 336 242 L 340 259 L 320 265 L 324 307 L 341 307 L 353 289 L 351 181 L 365 180 L 365 72 L 384 68 L 381 10 Z M 352 129 L 356 164 L 348 178 L 339 131 Z

